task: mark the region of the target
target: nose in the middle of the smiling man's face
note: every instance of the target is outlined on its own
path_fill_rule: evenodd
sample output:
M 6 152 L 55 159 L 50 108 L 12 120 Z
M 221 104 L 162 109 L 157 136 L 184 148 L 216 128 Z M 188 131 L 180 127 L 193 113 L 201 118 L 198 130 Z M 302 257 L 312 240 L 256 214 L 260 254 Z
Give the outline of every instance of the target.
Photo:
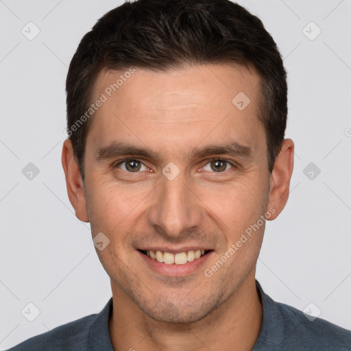
M 148 211 L 149 224 L 157 232 L 162 232 L 168 240 L 179 239 L 184 232 L 201 227 L 203 213 L 204 204 L 196 194 L 194 183 L 186 181 L 184 172 L 180 171 L 173 180 L 161 176 Z

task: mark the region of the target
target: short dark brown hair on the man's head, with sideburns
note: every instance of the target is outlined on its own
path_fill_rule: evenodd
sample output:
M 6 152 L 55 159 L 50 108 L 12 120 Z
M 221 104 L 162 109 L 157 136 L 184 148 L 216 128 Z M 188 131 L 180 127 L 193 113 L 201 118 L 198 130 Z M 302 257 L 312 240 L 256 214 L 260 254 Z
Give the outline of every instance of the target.
M 101 69 L 166 71 L 221 63 L 251 64 L 261 77 L 258 119 L 265 128 L 271 172 L 287 125 L 287 81 L 276 43 L 261 20 L 229 0 L 138 0 L 102 16 L 69 66 L 67 130 L 83 180 L 90 119 L 77 123 L 91 104 Z

